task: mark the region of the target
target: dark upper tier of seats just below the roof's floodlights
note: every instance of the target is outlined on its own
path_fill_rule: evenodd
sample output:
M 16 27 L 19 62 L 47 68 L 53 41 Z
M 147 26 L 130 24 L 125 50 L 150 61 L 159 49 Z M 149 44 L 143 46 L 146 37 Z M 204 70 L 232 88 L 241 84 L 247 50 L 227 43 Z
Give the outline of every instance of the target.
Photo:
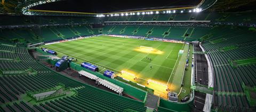
M 19 19 L 17 19 L 19 18 Z M 255 23 L 255 12 L 241 13 L 220 13 L 220 12 L 199 12 L 199 13 L 170 13 L 151 15 L 129 15 L 119 17 L 55 17 L 55 16 L 8 16 L 1 15 L 0 26 L 2 25 L 45 25 L 61 23 L 99 23 L 105 21 L 202 21 L 211 22 L 233 22 L 233 23 Z

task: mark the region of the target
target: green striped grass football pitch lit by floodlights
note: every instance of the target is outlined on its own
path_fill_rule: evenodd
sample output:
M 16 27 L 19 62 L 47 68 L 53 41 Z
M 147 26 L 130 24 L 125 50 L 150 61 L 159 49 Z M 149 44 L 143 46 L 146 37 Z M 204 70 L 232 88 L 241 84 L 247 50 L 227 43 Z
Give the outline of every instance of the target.
M 78 64 L 82 62 L 93 63 L 99 66 L 101 73 L 108 69 L 115 71 L 118 76 L 122 77 L 119 73 L 124 70 L 134 74 L 138 79 L 129 79 L 129 77 L 123 76 L 124 78 L 142 85 L 147 85 L 145 82 L 148 80 L 166 85 L 177 82 L 179 85 L 183 76 L 176 76 L 179 79 L 175 79 L 173 74 L 175 71 L 180 73 L 184 71 L 184 66 L 181 66 L 181 69 L 178 66 L 180 65 L 179 61 L 186 63 L 186 58 L 181 59 L 178 54 L 186 45 L 183 43 L 146 41 L 144 39 L 98 36 L 45 45 L 44 47 L 57 51 L 58 57 L 69 55 L 69 57 L 76 58 Z M 143 52 L 140 51 L 140 46 L 153 47 L 155 50 Z M 183 54 L 186 55 L 186 53 Z

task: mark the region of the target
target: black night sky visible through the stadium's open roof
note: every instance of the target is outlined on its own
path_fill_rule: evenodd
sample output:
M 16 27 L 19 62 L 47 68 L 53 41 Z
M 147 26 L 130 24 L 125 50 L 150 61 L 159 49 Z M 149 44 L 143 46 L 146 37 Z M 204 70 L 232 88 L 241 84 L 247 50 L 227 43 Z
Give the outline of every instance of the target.
M 162 6 L 195 6 L 201 0 L 157 0 L 157 1 L 86 1 L 86 0 L 66 0 L 53 2 L 33 7 L 35 10 L 52 10 L 52 11 L 70 11 L 70 12 L 91 12 L 91 13 L 107 13 L 118 12 L 122 10 L 141 9 L 148 7 Z M 158 8 L 159 9 L 159 8 Z M 162 9 L 162 8 L 161 8 Z

